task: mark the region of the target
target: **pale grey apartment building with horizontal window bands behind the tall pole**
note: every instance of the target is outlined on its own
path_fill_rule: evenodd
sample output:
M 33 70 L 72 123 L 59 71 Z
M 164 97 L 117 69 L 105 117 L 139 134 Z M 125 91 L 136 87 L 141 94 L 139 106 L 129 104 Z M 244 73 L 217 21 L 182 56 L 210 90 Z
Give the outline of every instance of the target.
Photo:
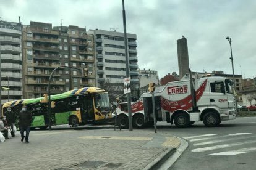
M 88 30 L 88 34 L 93 34 L 95 38 L 96 86 L 103 86 L 106 80 L 123 86 L 123 79 L 126 78 L 124 33 L 96 29 Z M 127 34 L 130 80 L 134 91 L 139 89 L 136 39 L 136 34 Z

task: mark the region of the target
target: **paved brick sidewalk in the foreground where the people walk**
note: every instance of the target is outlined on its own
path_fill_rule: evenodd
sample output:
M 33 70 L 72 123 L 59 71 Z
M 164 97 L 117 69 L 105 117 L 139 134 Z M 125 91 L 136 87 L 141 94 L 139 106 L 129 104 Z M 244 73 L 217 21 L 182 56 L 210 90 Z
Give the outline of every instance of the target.
M 106 128 L 30 131 L 30 143 L 19 131 L 0 143 L 1 169 L 157 169 L 180 140 L 153 129 Z

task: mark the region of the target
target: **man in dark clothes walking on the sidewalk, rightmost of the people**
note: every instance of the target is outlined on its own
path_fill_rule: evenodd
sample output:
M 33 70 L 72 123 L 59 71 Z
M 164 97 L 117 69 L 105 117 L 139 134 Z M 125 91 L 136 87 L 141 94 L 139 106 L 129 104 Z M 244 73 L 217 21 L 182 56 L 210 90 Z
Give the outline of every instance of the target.
M 28 142 L 28 136 L 30 132 L 30 124 L 32 123 L 32 115 L 30 112 L 28 112 L 27 107 L 24 105 L 22 107 L 22 111 L 20 111 L 19 115 L 19 123 L 20 123 L 20 134 L 21 134 L 21 141 L 24 140 L 24 131 L 26 131 L 26 137 L 25 140 Z

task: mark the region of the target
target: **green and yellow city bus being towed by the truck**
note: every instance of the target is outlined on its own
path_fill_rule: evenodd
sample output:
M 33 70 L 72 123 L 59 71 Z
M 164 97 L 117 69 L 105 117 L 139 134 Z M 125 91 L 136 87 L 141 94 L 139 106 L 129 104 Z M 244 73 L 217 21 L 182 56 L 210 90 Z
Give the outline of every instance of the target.
M 4 103 L 2 111 L 11 107 L 18 127 L 18 116 L 23 105 L 26 105 L 28 111 L 32 113 L 32 129 L 36 127 L 46 129 L 49 126 L 47 94 L 36 99 L 21 99 Z M 108 92 L 96 87 L 84 87 L 51 95 L 50 115 L 51 125 L 69 124 L 71 127 L 77 127 L 109 121 L 112 113 Z

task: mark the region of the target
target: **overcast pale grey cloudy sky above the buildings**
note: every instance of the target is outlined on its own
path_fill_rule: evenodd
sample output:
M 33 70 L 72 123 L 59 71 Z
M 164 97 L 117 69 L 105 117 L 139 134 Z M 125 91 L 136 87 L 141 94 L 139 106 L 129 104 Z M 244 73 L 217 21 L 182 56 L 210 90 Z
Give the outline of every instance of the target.
M 123 32 L 122 0 L 0 0 L 1 20 Z M 192 71 L 218 71 L 243 78 L 256 76 L 256 1 L 125 0 L 127 33 L 137 34 L 140 69 L 157 70 L 162 78 L 179 72 L 177 39 L 188 41 Z

